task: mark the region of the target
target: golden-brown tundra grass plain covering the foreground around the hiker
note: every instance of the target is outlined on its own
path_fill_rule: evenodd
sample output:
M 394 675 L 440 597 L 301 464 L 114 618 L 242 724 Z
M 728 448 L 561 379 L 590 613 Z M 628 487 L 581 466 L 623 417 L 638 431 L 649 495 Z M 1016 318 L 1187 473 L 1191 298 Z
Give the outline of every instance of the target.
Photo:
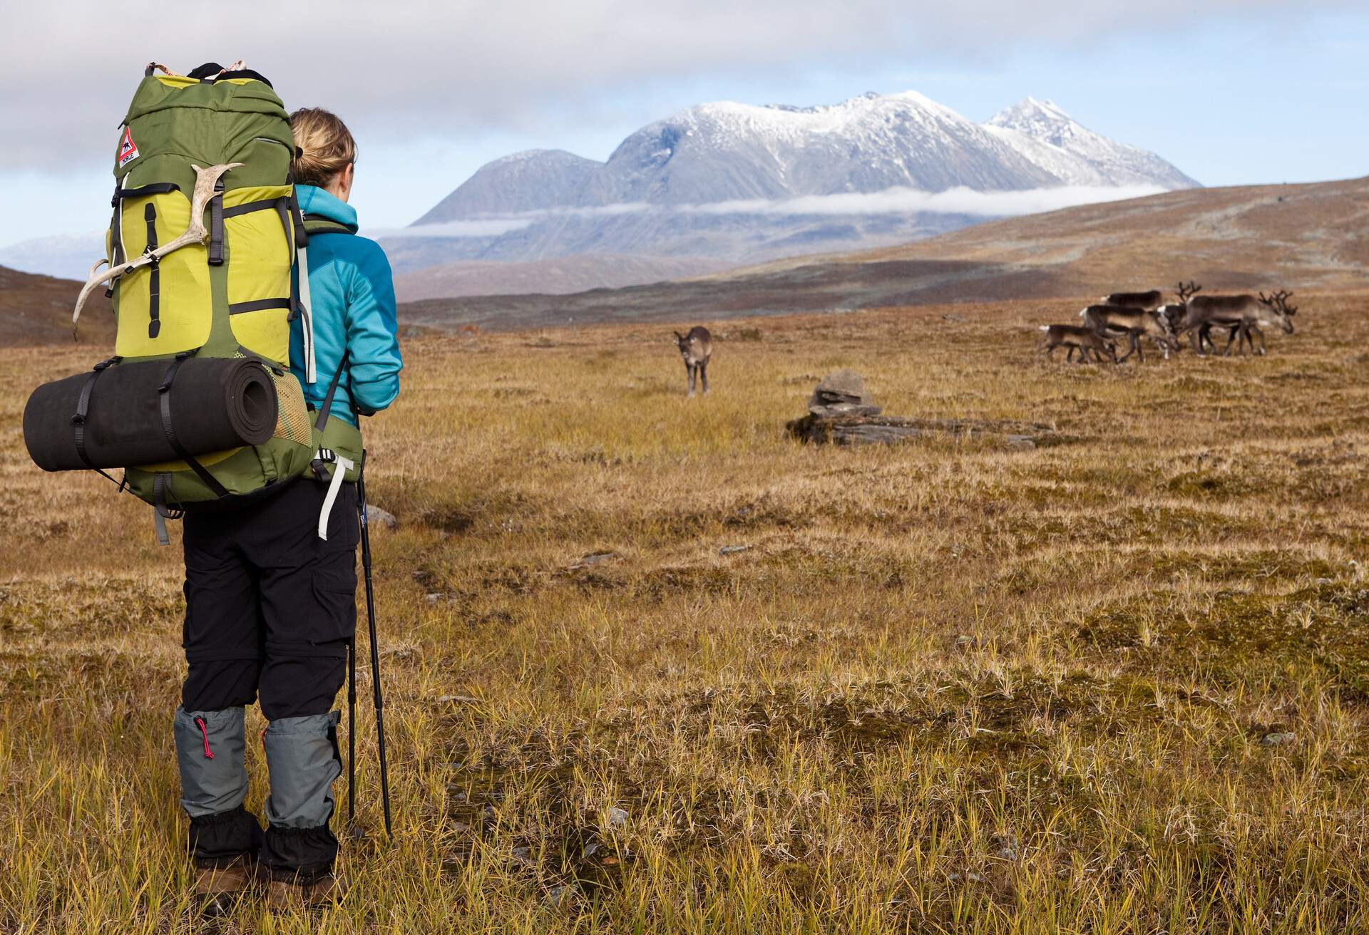
M 1369 300 L 1266 359 L 1039 361 L 1079 303 L 709 322 L 695 400 L 669 327 L 409 341 L 368 433 L 396 846 L 363 667 L 327 931 L 1369 930 Z M 0 356 L 4 932 L 197 928 L 179 550 L 21 442 L 101 350 Z M 787 439 L 843 366 L 1061 444 Z

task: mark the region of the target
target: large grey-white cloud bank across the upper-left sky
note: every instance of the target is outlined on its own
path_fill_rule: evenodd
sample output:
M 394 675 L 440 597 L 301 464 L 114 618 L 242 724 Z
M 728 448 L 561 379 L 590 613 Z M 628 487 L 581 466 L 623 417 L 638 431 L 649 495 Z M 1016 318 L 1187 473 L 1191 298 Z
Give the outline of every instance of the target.
M 1320 0 L 1321 7 L 1346 3 Z M 107 4 L 10 3 L 0 30 L 7 167 L 89 163 L 151 59 L 190 68 L 245 57 L 287 104 L 333 107 L 379 134 L 527 130 L 652 82 L 830 67 L 876 56 L 1002 59 L 1285 0 L 237 0 L 111 19 Z M 375 138 L 372 136 L 372 138 Z M 363 149 L 364 159 L 364 149 Z

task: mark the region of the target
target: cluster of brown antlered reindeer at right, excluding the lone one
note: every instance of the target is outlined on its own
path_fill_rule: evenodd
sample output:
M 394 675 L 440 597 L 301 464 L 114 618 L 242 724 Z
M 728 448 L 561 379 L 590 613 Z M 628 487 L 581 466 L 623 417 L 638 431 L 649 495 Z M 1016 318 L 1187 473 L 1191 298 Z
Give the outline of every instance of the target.
M 1114 364 L 1132 355 L 1144 363 L 1146 355 L 1140 349 L 1144 338 L 1154 341 L 1168 360 L 1170 353 L 1179 353 L 1179 338 L 1186 333 L 1194 353 L 1202 356 L 1217 350 L 1212 340 L 1213 329 L 1227 329 L 1227 345 L 1221 349 L 1224 357 L 1238 338 L 1236 353 L 1246 353 L 1247 344 L 1251 353 L 1265 353 L 1264 329 L 1279 327 L 1284 334 L 1292 334 L 1292 316 L 1298 313 L 1298 307 L 1288 304 L 1291 292 L 1280 290 L 1269 296 L 1199 296 L 1199 292 L 1202 286 L 1190 281 L 1179 283 L 1179 301 L 1170 304 L 1165 304 L 1160 289 L 1103 296 L 1101 304 L 1079 312 L 1083 324 L 1040 326 L 1046 333 L 1040 349 L 1053 357 L 1055 348 L 1065 346 L 1069 349 L 1066 361 L 1073 360 L 1077 352 L 1079 363 L 1090 359 L 1103 363 L 1105 355 Z M 1128 348 L 1118 357 L 1117 341 L 1121 338 L 1127 338 Z M 1255 338 L 1259 338 L 1259 350 L 1255 350 Z

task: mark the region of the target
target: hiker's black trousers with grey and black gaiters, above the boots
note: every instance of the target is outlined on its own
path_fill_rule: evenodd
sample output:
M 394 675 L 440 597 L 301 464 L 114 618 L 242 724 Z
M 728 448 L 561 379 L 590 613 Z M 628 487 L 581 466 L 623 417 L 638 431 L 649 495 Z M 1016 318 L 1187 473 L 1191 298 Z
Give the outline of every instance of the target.
M 189 672 L 177 753 L 201 867 L 260 856 L 272 875 L 308 880 L 331 871 L 337 856 L 329 819 L 342 767 L 331 708 L 356 632 L 360 530 L 356 486 L 345 483 L 329 538 L 319 538 L 326 491 L 301 478 L 241 509 L 185 516 Z M 264 838 L 242 806 L 242 709 L 255 701 L 271 721 L 263 735 L 271 772 Z

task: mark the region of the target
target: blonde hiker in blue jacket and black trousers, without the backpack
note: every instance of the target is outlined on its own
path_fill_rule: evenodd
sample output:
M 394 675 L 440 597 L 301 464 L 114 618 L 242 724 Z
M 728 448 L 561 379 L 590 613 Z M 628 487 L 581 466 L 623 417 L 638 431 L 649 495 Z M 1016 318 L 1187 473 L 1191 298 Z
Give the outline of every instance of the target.
M 305 379 L 298 318 L 290 370 L 311 412 L 327 405 L 331 385 L 329 418 L 357 427 L 357 413 L 386 408 L 400 389 L 390 267 L 379 245 L 355 235 L 348 197 L 356 142 L 346 126 L 324 110 L 304 108 L 290 115 L 290 171 L 309 231 L 305 286 L 319 376 Z M 268 904 L 281 908 L 327 905 L 345 891 L 334 873 L 338 842 L 329 820 L 342 771 L 333 702 L 356 628 L 356 485 L 341 483 L 320 520 L 327 494 L 329 485 L 305 475 L 229 511 L 185 515 L 189 672 L 175 743 L 196 897 L 209 916 L 229 912 L 257 882 L 267 884 Z M 244 708 L 253 701 L 268 721 L 264 834 L 244 808 Z

